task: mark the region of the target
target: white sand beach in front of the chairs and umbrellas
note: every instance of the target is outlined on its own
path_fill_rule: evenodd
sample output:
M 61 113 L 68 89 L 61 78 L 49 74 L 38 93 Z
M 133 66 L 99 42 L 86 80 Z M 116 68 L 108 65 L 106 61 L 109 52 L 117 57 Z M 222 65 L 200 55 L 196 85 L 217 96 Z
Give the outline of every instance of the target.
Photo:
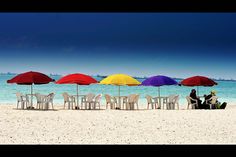
M 225 110 L 15 108 L 0 105 L 0 144 L 236 143 L 236 104 Z

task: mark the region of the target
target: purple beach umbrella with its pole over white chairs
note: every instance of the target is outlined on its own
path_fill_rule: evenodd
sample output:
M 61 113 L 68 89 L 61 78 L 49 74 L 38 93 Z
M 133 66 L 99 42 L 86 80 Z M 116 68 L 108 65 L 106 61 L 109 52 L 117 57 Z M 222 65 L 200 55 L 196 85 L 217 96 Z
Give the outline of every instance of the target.
M 161 92 L 160 92 L 160 86 L 164 85 L 177 85 L 178 82 L 176 82 L 174 79 L 168 77 L 168 76 L 163 76 L 163 75 L 157 75 L 157 76 L 152 76 L 144 80 L 140 86 L 155 86 L 158 87 L 158 96 L 159 96 L 159 102 L 161 103 Z

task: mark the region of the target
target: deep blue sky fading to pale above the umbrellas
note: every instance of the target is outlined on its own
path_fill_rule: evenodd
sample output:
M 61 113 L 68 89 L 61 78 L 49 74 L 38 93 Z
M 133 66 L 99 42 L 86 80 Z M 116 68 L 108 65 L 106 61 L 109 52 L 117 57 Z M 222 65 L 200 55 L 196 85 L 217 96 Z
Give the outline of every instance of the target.
M 236 79 L 236 13 L 0 13 L 0 72 Z

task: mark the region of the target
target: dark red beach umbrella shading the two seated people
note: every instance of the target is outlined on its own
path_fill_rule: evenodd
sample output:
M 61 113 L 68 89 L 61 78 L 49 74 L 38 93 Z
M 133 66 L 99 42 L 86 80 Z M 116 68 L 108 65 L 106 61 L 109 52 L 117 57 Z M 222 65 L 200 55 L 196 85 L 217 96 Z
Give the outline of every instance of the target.
M 217 85 L 217 83 L 205 76 L 193 76 L 182 80 L 180 82 L 180 85 L 190 86 L 190 87 L 197 86 L 197 94 L 199 94 L 198 92 L 199 86 L 211 87 Z

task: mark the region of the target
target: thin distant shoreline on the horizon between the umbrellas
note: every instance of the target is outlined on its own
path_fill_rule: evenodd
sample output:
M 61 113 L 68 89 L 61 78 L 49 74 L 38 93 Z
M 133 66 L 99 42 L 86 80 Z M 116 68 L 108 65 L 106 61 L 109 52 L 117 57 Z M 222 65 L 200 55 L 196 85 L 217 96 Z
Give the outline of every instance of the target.
M 11 72 L 7 72 L 7 73 L 0 73 L 0 76 L 6 76 L 6 75 L 18 75 L 18 73 L 11 73 Z M 63 76 L 62 74 L 48 74 L 49 76 Z M 100 77 L 100 78 L 106 78 L 107 75 L 91 75 L 92 77 Z M 135 79 L 147 79 L 148 77 L 138 77 L 138 76 L 132 76 Z M 172 77 L 175 80 L 183 80 L 184 78 L 175 78 Z M 234 79 L 215 79 L 215 78 L 211 78 L 214 81 L 233 81 L 235 82 L 236 80 Z

